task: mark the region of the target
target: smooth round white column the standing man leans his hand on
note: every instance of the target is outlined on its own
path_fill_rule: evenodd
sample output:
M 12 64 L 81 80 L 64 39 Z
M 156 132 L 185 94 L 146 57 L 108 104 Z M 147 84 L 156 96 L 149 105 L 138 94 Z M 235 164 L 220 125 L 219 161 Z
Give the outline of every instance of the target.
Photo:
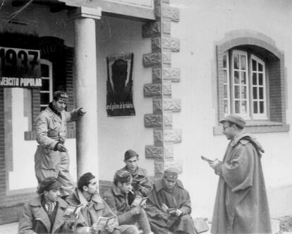
M 73 80 L 76 107 L 87 113 L 76 122 L 77 175 L 92 172 L 97 180 L 97 52 L 95 20 L 102 15 L 100 8 L 75 8 L 69 12 L 74 20 Z

